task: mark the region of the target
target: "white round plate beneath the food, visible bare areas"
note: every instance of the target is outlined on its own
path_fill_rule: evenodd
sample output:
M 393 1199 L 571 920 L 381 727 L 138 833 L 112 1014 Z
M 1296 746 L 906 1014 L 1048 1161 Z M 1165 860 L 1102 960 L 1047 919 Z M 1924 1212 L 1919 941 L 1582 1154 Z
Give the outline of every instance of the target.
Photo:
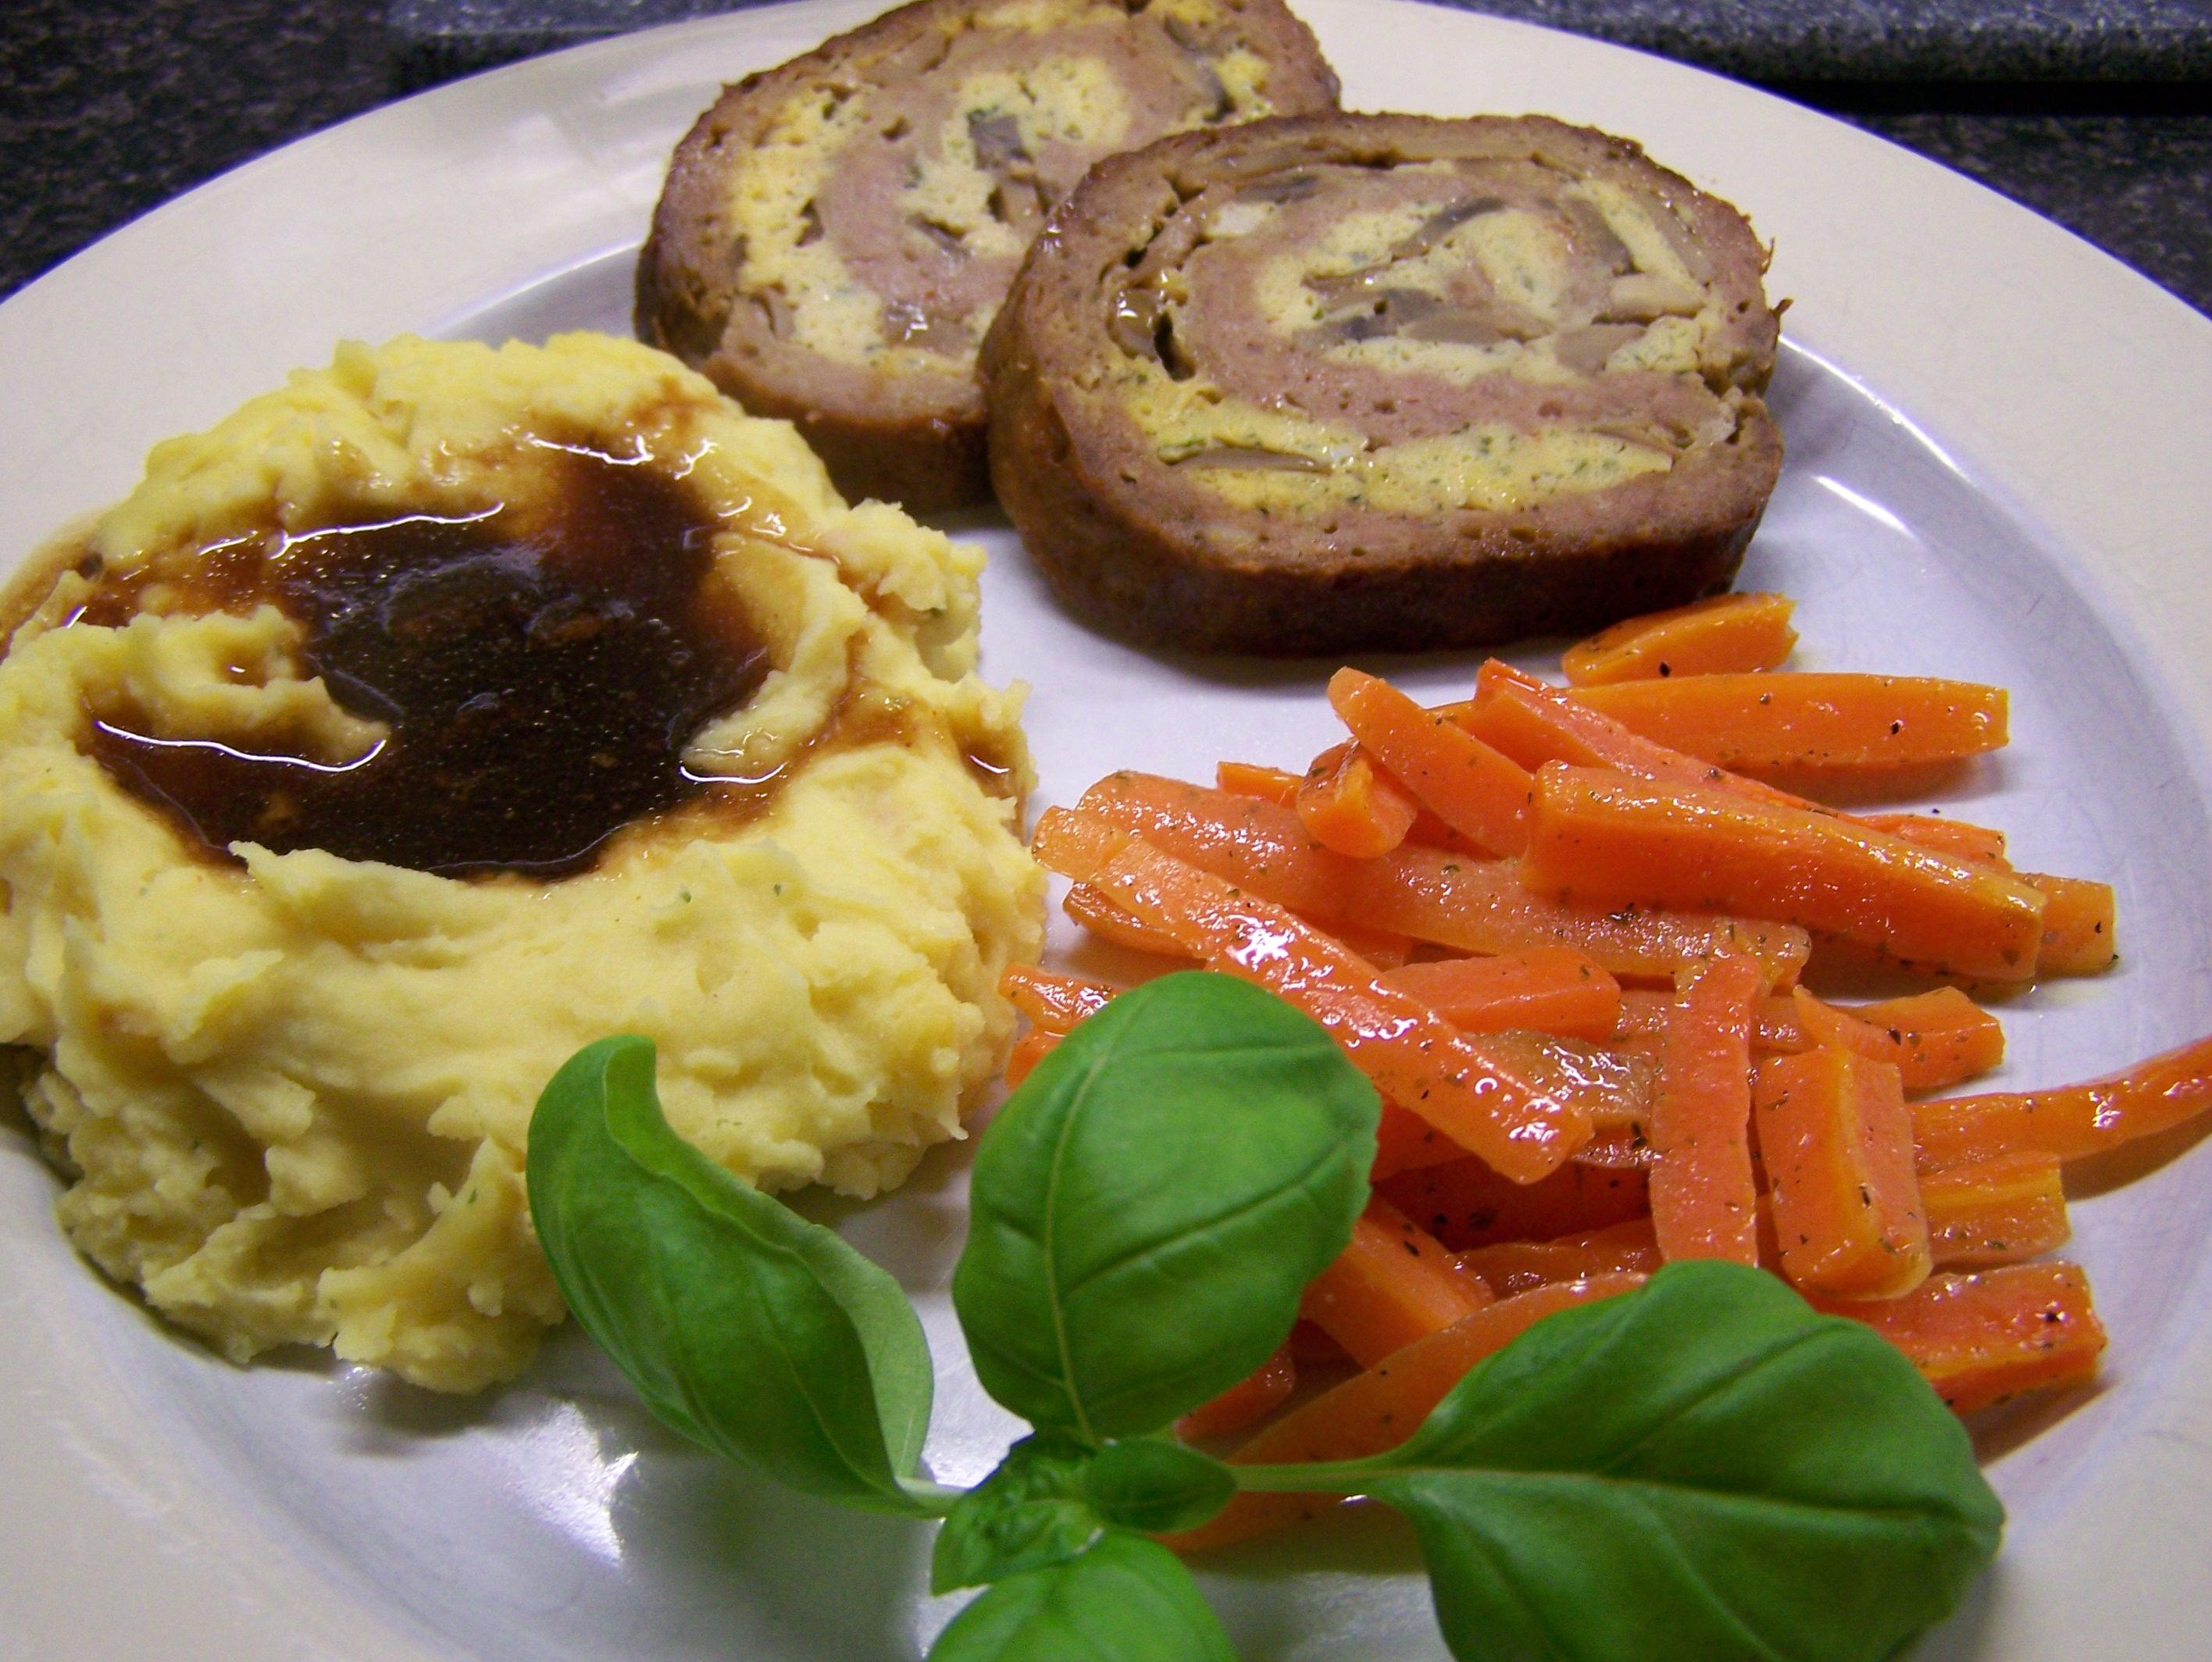
M 144 449 L 338 336 L 626 323 L 668 148 L 721 80 L 872 0 L 750 11 L 498 71 L 232 173 L 0 305 L 0 564 Z M 2017 748 L 1964 781 L 2028 865 L 2119 883 L 2124 963 L 2017 1000 L 2006 1078 L 2101 1071 L 2212 1029 L 2212 323 L 1986 190 L 1767 95 L 1522 24 L 1303 0 L 1363 108 L 1548 111 L 1644 139 L 1741 204 L 1790 294 L 1790 465 L 1747 580 L 1803 602 L 1805 662 L 2004 682 Z M 1159 662 L 1044 598 L 995 522 L 987 671 L 1035 684 L 1044 799 L 1113 766 L 1290 764 L 1321 666 Z M 1405 666 L 1422 690 L 1471 659 Z M 1071 941 L 1057 938 L 1060 949 Z M 949 1321 L 964 1162 L 847 1233 L 916 1292 L 931 1461 L 1011 1432 Z M 230 1370 L 62 1246 L 53 1177 L 0 1138 L 0 1655 L 914 1658 L 927 1531 L 792 1498 L 659 1434 L 573 1332 L 451 1403 L 321 1368 Z M 2084 1199 L 2106 1388 L 1984 1441 L 1997 1571 L 1922 1655 L 2201 1658 L 2212 1576 L 2212 1149 Z M 1248 1662 L 1440 1655 L 1391 1527 L 1208 1576 Z M 1292 1573 L 1296 1571 L 1296 1573 Z

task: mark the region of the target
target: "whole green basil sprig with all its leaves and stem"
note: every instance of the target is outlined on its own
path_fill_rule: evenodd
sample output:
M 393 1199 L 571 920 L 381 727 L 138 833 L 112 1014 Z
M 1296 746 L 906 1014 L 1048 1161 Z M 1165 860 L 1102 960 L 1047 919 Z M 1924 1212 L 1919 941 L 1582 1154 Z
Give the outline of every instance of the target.
M 984 1591 L 931 1662 L 1225 1662 L 1197 1582 L 1137 1531 L 1237 1489 L 1402 1512 L 1462 1662 L 1878 1662 L 1989 1565 L 2004 1512 L 1911 1365 L 1732 1264 L 1540 1321 L 1369 1461 L 1164 1441 L 1349 1239 L 1376 1113 L 1314 1022 L 1223 976 L 1071 1033 L 975 1157 L 953 1301 L 1037 1434 L 964 1494 L 920 1476 L 929 1352 L 896 1281 L 690 1151 L 646 1040 L 546 1087 L 531 1215 L 655 1414 L 794 1487 L 945 1514 L 931 1585 Z

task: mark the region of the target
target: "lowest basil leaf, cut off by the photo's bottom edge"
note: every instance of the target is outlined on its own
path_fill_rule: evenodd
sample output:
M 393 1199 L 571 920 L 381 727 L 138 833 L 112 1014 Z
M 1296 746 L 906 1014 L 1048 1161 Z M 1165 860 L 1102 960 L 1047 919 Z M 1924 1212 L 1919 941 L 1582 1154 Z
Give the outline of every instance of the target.
M 1183 1562 L 1119 1529 L 1082 1558 L 995 1582 L 929 1647 L 929 1662 L 1084 1658 L 1237 1662 L 1237 1651 Z

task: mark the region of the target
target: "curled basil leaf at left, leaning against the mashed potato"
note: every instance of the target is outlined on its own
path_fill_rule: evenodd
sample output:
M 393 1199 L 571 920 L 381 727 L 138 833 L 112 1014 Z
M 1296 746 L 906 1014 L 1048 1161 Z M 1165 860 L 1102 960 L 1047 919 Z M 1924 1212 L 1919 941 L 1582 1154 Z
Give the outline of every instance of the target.
M 907 1295 L 677 1138 L 650 1040 L 553 1076 L 524 1171 L 562 1297 L 661 1421 L 794 1489 L 942 1509 L 909 1483 L 933 1381 Z

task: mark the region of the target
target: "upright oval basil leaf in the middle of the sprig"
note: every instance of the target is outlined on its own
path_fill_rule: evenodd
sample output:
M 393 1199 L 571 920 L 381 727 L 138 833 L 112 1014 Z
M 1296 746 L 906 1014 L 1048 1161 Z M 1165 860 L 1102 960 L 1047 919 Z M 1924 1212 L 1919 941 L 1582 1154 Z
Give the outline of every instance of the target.
M 1270 991 L 1188 972 L 1115 998 L 975 1153 L 953 1306 L 984 1390 L 1099 1443 L 1234 1385 L 1352 1239 L 1378 1113 Z

